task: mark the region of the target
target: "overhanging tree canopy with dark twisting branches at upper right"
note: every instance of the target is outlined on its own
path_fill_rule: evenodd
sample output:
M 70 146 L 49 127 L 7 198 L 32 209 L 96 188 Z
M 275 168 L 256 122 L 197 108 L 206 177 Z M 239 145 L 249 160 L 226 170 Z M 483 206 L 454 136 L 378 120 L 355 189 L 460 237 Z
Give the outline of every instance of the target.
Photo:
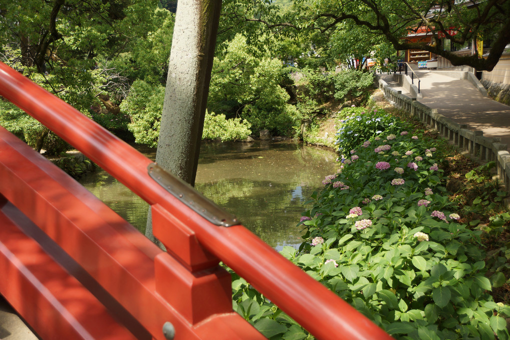
M 510 43 L 510 1 L 491 0 L 296 0 L 286 15 L 275 14 L 264 1 L 250 3 L 244 20 L 261 22 L 270 29 L 317 30 L 327 34 L 348 22 L 366 28 L 371 37 L 384 38 L 395 49 L 423 49 L 450 60 L 453 65 L 469 65 L 492 70 L 505 46 Z M 432 41 L 406 41 L 408 34 L 425 30 Z M 458 56 L 449 43 L 465 44 L 473 39 L 491 41 L 487 58 Z

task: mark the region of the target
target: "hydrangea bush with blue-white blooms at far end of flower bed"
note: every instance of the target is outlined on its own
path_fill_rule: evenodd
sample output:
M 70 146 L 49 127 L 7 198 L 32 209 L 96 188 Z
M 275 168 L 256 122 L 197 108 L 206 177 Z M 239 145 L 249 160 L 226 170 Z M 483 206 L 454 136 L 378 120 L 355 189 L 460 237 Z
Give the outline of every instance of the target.
M 339 113 L 337 123 L 338 153 L 347 155 L 355 146 L 360 145 L 372 137 L 381 134 L 396 133 L 401 128 L 407 128 L 407 124 L 397 120 L 384 110 L 371 110 L 363 107 L 345 108 Z

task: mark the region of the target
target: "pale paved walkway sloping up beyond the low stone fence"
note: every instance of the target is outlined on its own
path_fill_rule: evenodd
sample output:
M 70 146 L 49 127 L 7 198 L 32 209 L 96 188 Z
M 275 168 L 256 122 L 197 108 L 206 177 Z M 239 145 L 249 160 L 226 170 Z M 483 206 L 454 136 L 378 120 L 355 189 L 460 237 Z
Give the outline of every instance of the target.
M 510 107 L 484 97 L 468 80 L 459 80 L 441 71 L 415 71 L 423 99 L 419 101 L 438 113 L 470 128 L 482 130 L 486 137 L 499 137 L 510 149 Z M 393 82 L 393 76 L 382 74 L 381 79 L 391 87 L 403 88 Z M 416 79 L 415 79 L 416 85 Z

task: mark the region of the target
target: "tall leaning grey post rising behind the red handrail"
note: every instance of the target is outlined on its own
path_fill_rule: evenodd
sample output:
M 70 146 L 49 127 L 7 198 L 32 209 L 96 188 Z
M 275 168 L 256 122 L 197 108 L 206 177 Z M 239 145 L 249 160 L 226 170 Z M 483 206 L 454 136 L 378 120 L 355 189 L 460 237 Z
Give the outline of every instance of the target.
M 156 162 L 195 184 L 221 0 L 180 0 L 163 102 Z M 155 241 L 147 220 L 146 236 Z

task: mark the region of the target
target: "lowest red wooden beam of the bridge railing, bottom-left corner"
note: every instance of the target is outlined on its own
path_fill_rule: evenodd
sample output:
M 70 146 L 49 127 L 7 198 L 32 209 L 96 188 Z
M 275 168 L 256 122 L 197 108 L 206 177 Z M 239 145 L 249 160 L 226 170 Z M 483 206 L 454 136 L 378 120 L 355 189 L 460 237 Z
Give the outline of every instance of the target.
M 136 339 L 2 210 L 0 225 L 0 291 L 39 336 Z

